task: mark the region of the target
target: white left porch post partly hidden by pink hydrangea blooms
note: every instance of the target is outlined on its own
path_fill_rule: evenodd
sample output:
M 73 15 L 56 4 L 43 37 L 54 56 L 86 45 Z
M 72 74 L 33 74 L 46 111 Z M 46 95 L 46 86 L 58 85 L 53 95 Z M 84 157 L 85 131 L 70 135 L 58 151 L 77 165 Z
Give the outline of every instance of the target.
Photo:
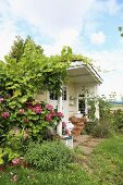
M 60 91 L 60 96 L 58 97 L 58 112 L 62 112 L 62 90 Z M 62 136 L 62 121 L 57 126 L 57 134 Z

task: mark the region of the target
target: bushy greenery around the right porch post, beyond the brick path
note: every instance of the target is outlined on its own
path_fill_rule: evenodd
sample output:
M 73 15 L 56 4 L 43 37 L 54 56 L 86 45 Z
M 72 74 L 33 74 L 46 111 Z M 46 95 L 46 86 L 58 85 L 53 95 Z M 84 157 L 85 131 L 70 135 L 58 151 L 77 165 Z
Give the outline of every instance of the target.
M 95 104 L 98 103 L 99 116 L 95 116 Z M 111 104 L 106 97 L 89 97 L 88 99 L 89 121 L 86 123 L 85 131 L 94 137 L 109 137 L 123 128 L 123 111 L 111 111 Z

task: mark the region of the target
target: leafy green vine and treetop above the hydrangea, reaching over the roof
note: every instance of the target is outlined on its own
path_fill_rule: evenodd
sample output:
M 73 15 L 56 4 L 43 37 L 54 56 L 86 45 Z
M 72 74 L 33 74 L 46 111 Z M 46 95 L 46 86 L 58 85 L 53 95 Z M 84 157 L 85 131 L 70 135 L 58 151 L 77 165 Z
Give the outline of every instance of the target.
M 27 37 L 16 37 L 11 51 L 0 62 L 0 94 L 12 99 L 26 101 L 39 91 L 60 94 L 62 83 L 66 81 L 72 61 L 79 60 L 90 64 L 90 60 L 81 54 L 73 54 L 70 47 L 63 47 L 60 54 L 47 57 L 44 49 Z

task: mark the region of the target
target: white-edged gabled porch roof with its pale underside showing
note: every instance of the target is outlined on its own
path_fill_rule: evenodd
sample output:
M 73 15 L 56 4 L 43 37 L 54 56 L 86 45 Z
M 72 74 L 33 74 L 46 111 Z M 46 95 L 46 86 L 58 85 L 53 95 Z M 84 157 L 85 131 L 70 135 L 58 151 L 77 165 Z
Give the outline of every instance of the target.
M 69 76 L 74 83 L 97 83 L 102 84 L 102 78 L 91 65 L 87 65 L 82 61 L 72 62 L 67 69 Z

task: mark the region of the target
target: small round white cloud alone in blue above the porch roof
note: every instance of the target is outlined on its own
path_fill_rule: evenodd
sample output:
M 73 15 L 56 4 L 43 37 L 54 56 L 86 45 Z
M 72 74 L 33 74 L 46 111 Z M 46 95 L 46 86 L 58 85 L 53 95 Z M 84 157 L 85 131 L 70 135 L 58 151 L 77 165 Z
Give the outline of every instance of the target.
M 94 45 L 102 45 L 106 41 L 106 35 L 103 34 L 103 32 L 91 33 L 90 41 Z

